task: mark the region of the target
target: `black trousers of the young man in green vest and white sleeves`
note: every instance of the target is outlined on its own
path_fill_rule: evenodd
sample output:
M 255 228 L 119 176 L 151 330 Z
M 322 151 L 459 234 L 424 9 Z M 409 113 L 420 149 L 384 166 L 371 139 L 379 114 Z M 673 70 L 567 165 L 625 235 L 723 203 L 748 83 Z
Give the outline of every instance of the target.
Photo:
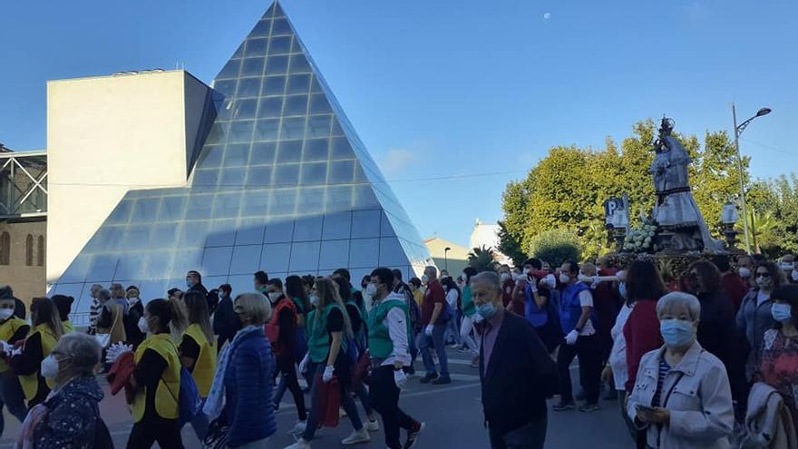
M 394 382 L 394 366 L 380 366 L 372 370 L 368 399 L 383 417 L 385 445 L 391 449 L 402 447 L 399 429 L 411 430 L 415 420 L 399 408 L 399 388 Z

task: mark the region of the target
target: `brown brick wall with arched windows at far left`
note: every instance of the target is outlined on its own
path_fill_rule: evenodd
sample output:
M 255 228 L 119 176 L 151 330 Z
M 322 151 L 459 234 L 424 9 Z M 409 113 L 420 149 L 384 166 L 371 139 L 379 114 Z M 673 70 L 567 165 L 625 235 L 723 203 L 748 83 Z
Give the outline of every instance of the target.
M 44 296 L 46 282 L 44 281 L 44 265 L 46 261 L 39 259 L 40 237 L 47 246 L 47 223 L 41 221 L 7 222 L 0 221 L 0 239 L 3 233 L 8 232 L 11 242 L 9 264 L 0 265 L 0 285 L 10 285 L 14 288 L 17 298 L 30 303 L 31 298 Z M 26 240 L 33 238 L 32 258 L 26 260 Z M 30 262 L 30 266 L 27 265 Z

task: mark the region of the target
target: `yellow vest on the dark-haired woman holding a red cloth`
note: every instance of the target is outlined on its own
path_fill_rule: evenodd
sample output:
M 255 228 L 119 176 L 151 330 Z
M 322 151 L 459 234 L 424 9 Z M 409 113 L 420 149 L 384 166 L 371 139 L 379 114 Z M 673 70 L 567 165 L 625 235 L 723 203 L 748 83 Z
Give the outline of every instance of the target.
M 180 397 L 180 357 L 178 348 L 171 341 L 169 334 L 157 334 L 144 340 L 133 356 L 135 363 L 141 362 L 144 351 L 152 349 L 157 352 L 167 366 L 158 381 L 158 389 L 155 391 L 155 413 L 164 419 L 177 419 L 180 415 L 178 398 Z M 144 409 L 147 406 L 147 387 L 142 386 L 136 396 L 133 397 L 133 421 L 138 423 L 144 417 Z

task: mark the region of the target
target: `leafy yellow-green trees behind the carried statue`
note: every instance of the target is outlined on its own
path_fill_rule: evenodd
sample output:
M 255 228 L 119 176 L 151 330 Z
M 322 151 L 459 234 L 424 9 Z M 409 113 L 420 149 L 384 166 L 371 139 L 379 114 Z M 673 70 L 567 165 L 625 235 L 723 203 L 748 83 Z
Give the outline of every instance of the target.
M 601 150 L 551 148 L 525 179 L 510 182 L 504 190 L 501 251 L 513 260 L 520 260 L 521 254 L 535 254 L 533 241 L 549 229 L 572 229 L 582 255 L 589 259 L 613 250 L 604 227 L 603 202 L 628 193 L 629 216 L 636 226 L 641 224 L 641 211 L 644 216 L 651 213 L 656 195 L 648 169 L 654 159 L 656 134 L 657 125 L 649 119 L 635 123 L 632 135 L 619 149 L 609 138 Z M 739 192 L 734 145 L 726 132 L 706 132 L 703 142 L 696 136 L 675 137 L 693 158 L 690 183 L 698 208 L 715 237 L 721 237 L 723 204 L 735 200 Z M 746 185 L 750 183 L 747 168 L 748 159 L 744 159 Z M 779 221 L 773 231 L 776 244 L 798 249 L 798 181 L 793 177 L 790 181 L 753 183 L 749 198 L 756 198 L 766 210 L 775 208 L 774 217 Z

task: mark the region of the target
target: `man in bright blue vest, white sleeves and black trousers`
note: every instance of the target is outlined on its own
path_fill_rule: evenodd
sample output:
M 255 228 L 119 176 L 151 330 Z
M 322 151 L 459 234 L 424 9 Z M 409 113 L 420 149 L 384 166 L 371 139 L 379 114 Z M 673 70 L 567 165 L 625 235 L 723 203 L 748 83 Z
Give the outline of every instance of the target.
M 570 363 L 579 356 L 579 383 L 585 389 L 587 402 L 579 407 L 582 412 L 599 410 L 599 386 L 601 382 L 601 353 L 596 337 L 599 320 L 593 308 L 590 288 L 579 282 L 579 264 L 570 261 L 560 268 L 560 327 L 566 334 L 564 345 L 560 345 L 557 366 L 560 372 L 560 404 L 554 411 L 574 408 L 570 384 Z

